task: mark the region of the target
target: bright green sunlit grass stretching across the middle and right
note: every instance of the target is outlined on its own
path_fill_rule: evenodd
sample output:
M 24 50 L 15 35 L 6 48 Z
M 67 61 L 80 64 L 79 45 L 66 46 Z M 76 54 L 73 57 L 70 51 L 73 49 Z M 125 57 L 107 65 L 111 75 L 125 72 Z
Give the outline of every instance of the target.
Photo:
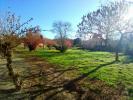
M 103 80 L 113 86 L 121 81 L 133 95 L 133 59 L 131 57 L 120 54 L 120 62 L 114 62 L 113 53 L 77 49 L 69 49 L 64 54 L 56 50 L 38 49 L 29 55 L 42 57 L 60 68 L 77 67 L 80 74 L 94 70 L 88 77 Z

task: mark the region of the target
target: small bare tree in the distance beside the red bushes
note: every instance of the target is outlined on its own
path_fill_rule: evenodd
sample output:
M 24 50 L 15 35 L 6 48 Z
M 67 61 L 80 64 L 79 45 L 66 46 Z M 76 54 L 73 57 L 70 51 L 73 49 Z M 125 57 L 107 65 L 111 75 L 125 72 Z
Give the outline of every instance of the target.
M 68 37 L 68 32 L 71 30 L 71 24 L 68 22 L 55 22 L 53 23 L 53 32 L 56 33 L 57 44 L 61 52 L 64 52 L 67 47 L 65 40 Z

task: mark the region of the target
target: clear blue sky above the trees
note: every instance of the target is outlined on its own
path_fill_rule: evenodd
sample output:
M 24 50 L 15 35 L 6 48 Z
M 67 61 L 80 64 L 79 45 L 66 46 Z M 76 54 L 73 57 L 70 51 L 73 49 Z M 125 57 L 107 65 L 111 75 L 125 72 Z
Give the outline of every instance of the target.
M 39 25 L 42 29 L 52 29 L 52 23 L 55 21 L 70 22 L 73 28 L 70 37 L 74 37 L 81 17 L 96 10 L 100 2 L 100 0 L 0 0 L 0 14 L 10 9 L 21 16 L 22 21 L 34 18 L 30 24 Z M 53 33 L 42 33 L 48 38 L 54 38 Z

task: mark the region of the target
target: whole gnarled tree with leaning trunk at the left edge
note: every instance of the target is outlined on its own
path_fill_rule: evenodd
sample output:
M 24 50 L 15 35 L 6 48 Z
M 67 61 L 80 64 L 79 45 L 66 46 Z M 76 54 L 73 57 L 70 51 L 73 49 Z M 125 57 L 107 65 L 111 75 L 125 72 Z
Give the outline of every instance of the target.
M 24 25 L 28 24 L 32 18 L 25 23 L 20 23 L 20 17 L 11 12 L 7 16 L 0 18 L 0 54 L 7 60 L 7 69 L 9 76 L 12 78 L 16 90 L 21 89 L 21 80 L 19 75 L 12 68 L 12 51 L 21 43 L 21 37 L 25 33 Z

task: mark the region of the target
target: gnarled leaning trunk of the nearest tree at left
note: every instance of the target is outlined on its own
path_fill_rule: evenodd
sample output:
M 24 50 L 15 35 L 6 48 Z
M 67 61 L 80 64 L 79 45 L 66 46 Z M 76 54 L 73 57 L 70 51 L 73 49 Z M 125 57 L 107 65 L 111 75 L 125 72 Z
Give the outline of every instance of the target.
M 16 87 L 16 90 L 20 90 L 21 89 L 21 81 L 19 79 L 18 74 L 15 74 L 14 70 L 12 68 L 12 51 L 10 49 L 7 49 L 6 60 L 7 60 L 7 68 L 9 71 L 9 76 L 12 78 L 13 83 Z

